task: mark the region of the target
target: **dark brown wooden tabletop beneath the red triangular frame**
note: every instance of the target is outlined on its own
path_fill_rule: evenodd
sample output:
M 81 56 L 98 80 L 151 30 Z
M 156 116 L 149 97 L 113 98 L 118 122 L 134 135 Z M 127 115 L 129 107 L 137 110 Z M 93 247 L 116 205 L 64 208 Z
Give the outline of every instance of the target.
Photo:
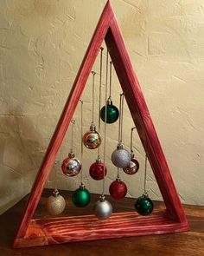
M 35 218 L 46 218 L 45 212 L 46 197 L 50 190 L 45 190 L 35 212 Z M 73 207 L 70 200 L 70 193 L 61 191 L 67 199 L 67 208 L 62 216 L 81 215 L 92 213 L 92 204 L 83 208 Z M 98 200 L 99 195 L 92 195 L 92 202 Z M 72 255 L 72 256 L 99 256 L 99 255 L 171 255 L 171 256 L 204 256 L 204 207 L 184 205 L 188 217 L 190 231 L 185 233 L 169 233 L 142 237 L 130 237 L 112 240 L 93 240 L 75 242 L 57 246 L 41 246 L 23 249 L 12 249 L 11 245 L 16 233 L 16 226 L 21 218 L 23 207 L 28 196 L 23 198 L 15 207 L 10 208 L 0 216 L 0 255 Z M 133 210 L 133 199 L 112 200 L 114 212 L 126 212 Z M 156 208 L 163 208 L 162 202 L 154 202 Z M 83 211 L 83 212 L 82 212 Z

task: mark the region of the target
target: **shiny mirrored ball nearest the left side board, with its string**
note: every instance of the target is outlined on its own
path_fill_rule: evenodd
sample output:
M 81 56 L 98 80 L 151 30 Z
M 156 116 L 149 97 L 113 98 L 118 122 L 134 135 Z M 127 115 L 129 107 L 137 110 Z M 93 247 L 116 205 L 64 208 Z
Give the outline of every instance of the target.
M 80 161 L 75 157 L 73 153 L 73 126 L 75 120 L 72 120 L 72 143 L 71 143 L 71 152 L 68 154 L 68 157 L 62 162 L 61 169 L 63 174 L 68 177 L 75 176 L 80 173 L 81 165 Z

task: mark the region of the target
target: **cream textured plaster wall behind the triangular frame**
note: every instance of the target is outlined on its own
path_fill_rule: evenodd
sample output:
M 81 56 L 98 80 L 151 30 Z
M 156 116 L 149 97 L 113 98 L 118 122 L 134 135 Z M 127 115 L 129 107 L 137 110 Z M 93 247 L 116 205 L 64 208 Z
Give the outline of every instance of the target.
M 105 0 L 1 1 L 0 213 L 29 192 L 104 5 Z M 181 200 L 203 205 L 204 2 L 112 0 L 112 6 Z M 94 69 L 99 72 L 99 59 Z M 115 74 L 113 84 L 118 104 L 121 90 Z M 90 86 L 91 81 L 83 94 L 85 130 L 91 119 Z M 79 110 L 74 115 L 78 155 Z M 131 127 L 125 105 L 125 147 L 129 147 Z M 117 144 L 117 129 L 117 124 L 108 127 L 106 193 L 116 176 L 110 155 Z M 69 143 L 70 130 L 54 169 L 58 187 L 75 189 L 80 176 L 68 179 L 61 174 Z M 143 192 L 144 156 L 137 134 L 134 147 L 140 172 L 134 177 L 122 174 L 122 178 L 129 196 L 137 197 Z M 91 192 L 100 193 L 101 183 L 91 181 L 87 172 L 95 157 L 86 150 L 85 180 Z M 54 186 L 53 174 L 47 187 Z M 152 199 L 161 199 L 150 166 L 148 189 Z

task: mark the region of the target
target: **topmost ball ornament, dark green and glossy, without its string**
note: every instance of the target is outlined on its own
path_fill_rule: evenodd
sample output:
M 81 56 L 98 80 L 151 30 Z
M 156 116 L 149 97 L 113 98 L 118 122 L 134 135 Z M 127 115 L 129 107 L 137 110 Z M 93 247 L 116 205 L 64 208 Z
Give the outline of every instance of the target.
M 119 111 L 118 108 L 114 105 L 112 105 L 112 100 L 107 101 L 107 117 L 106 122 L 107 123 L 113 123 L 118 120 L 119 117 Z M 100 118 L 105 121 L 105 106 L 100 109 Z

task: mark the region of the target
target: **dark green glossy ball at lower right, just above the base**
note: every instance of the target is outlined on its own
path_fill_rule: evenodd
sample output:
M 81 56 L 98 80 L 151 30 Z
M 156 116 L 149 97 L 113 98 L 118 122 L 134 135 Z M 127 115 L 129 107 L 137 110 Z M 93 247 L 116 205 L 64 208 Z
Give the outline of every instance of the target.
M 140 215 L 150 215 L 153 211 L 153 202 L 150 200 L 148 194 L 144 193 L 142 196 L 138 197 L 135 202 L 135 208 L 137 213 Z

